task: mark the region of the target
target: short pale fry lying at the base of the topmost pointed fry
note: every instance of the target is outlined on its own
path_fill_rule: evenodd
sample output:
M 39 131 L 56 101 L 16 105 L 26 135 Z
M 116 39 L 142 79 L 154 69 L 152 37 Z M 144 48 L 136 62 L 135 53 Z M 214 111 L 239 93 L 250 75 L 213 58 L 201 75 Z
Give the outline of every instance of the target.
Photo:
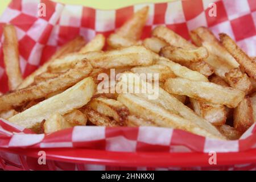
M 136 40 L 132 40 L 132 39 L 128 39 L 125 38 L 121 35 L 118 34 L 110 34 L 108 39 L 107 39 L 107 43 L 109 46 L 111 46 L 112 48 L 122 48 L 122 47 L 130 47 L 130 46 L 135 46 L 135 45 L 140 45 L 141 42 L 140 41 L 136 41 Z

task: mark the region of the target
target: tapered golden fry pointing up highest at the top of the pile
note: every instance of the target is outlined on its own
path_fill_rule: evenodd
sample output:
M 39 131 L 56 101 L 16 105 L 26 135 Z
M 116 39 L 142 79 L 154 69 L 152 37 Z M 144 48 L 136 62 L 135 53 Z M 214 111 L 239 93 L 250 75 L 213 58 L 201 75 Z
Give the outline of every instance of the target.
M 143 27 L 147 21 L 148 9 L 149 7 L 145 6 L 138 10 L 115 33 L 130 40 L 141 38 Z

